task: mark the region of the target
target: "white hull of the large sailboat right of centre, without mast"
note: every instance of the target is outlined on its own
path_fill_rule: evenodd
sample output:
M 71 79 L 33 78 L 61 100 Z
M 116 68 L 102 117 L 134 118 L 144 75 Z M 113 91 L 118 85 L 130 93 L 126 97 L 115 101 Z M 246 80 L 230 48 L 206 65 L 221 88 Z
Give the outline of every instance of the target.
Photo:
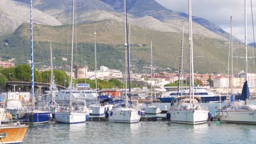
M 208 111 L 206 110 L 180 110 L 170 111 L 171 121 L 184 124 L 201 124 L 208 120 Z

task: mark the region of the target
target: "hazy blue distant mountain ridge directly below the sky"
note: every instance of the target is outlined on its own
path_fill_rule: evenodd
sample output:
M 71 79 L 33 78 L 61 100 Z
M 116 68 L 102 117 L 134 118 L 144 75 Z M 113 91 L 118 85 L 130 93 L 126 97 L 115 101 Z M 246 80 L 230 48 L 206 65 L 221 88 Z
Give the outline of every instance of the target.
M 100 0 L 100 1 L 111 5 L 115 10 L 119 10 L 119 11 L 124 10 L 123 0 Z M 188 19 L 187 14 L 175 13 L 172 10 L 166 9 L 159 3 L 155 2 L 154 0 L 130 0 L 127 2 L 127 11 L 128 13 L 135 15 L 137 17 L 152 16 L 159 21 L 167 22 L 172 25 L 179 24 L 179 27 L 182 26 L 181 22 L 173 23 L 173 21 L 181 21 L 181 20 L 187 21 Z M 226 33 L 222 28 L 216 26 L 214 23 L 203 18 L 193 19 L 193 21 L 205 27 L 209 31 L 216 33 L 218 35 L 221 35 L 226 40 L 229 39 L 229 34 Z M 201 28 L 199 29 L 199 31 L 201 31 Z M 216 38 L 220 38 L 220 37 L 216 37 Z

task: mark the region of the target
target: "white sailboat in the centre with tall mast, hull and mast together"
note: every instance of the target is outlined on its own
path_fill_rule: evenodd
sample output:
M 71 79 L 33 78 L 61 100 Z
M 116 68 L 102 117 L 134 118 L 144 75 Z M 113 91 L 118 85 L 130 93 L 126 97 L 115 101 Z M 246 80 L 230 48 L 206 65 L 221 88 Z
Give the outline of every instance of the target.
M 124 0 L 125 11 L 125 101 L 118 101 L 114 103 L 112 110 L 109 113 L 109 122 L 119 123 L 137 123 L 141 119 L 141 111 L 139 110 L 138 103 L 131 102 L 131 81 L 130 81 L 130 47 L 127 34 L 127 13 L 126 13 L 126 0 Z M 127 98 L 127 70 L 129 82 L 129 98 Z

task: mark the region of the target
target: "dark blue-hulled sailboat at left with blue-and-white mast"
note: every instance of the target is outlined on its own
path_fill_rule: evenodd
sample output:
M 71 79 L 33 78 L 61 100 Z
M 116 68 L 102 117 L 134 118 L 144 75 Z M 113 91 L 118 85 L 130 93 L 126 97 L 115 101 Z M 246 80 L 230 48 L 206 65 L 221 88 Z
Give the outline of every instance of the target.
M 34 107 L 34 56 L 33 56 L 33 19 L 32 19 L 32 0 L 30 1 L 30 26 L 31 26 L 31 96 L 32 96 L 32 107 L 27 111 L 19 111 L 17 113 L 18 119 L 24 119 L 23 123 L 37 124 L 47 123 L 50 119 L 50 112 L 39 111 Z

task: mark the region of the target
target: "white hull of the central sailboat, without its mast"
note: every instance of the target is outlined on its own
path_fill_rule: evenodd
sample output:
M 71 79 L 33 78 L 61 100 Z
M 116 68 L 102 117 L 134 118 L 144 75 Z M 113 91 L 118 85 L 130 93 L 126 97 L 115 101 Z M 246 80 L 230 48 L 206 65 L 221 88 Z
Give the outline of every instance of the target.
M 130 107 L 114 107 L 110 111 L 109 122 L 137 123 L 141 119 L 140 112 Z

